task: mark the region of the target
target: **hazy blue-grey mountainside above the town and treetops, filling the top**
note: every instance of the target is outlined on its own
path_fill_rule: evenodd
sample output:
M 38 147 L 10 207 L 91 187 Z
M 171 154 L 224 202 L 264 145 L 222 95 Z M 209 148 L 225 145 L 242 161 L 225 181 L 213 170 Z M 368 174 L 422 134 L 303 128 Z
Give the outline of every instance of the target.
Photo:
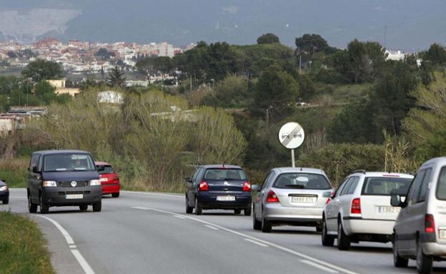
M 29 16 L 39 9 L 66 13 L 61 16 L 66 21 L 55 19 L 50 27 L 51 14 Z M 30 21 L 36 26 L 9 26 L 13 21 L 2 14 L 14 11 L 21 14 L 20 26 Z M 445 14 L 443 0 L 0 0 L 0 32 L 4 38 L 51 34 L 64 41 L 169 41 L 178 46 L 200 40 L 252 44 L 266 32 L 292 45 L 296 36 L 317 33 L 345 47 L 355 38 L 383 43 L 387 26 L 389 48 L 417 51 L 445 42 Z

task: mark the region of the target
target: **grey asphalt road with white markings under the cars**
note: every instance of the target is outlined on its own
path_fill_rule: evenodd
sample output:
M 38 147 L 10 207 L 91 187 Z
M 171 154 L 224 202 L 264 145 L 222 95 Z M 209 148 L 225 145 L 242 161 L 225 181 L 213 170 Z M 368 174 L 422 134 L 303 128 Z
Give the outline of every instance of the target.
M 0 210 L 27 213 L 26 191 L 11 189 Z M 122 192 L 102 211 L 50 208 L 29 215 L 49 243 L 57 273 L 416 273 L 392 264 L 390 244 L 323 247 L 314 228 L 252 230 L 252 217 L 231 211 L 184 212 L 184 197 Z M 446 263 L 434 263 L 446 273 Z

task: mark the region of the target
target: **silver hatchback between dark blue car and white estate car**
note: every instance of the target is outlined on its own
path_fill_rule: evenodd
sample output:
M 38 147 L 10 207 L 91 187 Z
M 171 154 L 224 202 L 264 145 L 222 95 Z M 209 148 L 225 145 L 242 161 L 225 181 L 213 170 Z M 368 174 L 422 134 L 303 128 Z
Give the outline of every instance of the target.
M 322 230 L 322 210 L 334 189 L 316 168 L 274 168 L 262 186 L 252 186 L 255 230 L 275 225 L 315 226 Z

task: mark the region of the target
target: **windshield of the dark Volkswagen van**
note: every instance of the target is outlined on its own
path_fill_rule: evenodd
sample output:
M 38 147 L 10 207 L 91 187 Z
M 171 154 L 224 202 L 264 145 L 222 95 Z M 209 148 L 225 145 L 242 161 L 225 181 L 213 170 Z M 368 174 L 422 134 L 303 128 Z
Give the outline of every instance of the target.
M 94 171 L 91 156 L 86 153 L 56 153 L 44 158 L 44 171 Z

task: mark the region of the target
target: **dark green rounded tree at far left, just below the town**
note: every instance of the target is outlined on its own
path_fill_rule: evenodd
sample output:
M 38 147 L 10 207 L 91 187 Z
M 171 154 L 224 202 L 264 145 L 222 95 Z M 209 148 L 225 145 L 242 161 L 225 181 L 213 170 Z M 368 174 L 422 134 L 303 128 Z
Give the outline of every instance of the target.
M 62 68 L 59 64 L 51 61 L 36 60 L 30 62 L 21 74 L 25 78 L 32 78 L 36 83 L 64 76 Z

